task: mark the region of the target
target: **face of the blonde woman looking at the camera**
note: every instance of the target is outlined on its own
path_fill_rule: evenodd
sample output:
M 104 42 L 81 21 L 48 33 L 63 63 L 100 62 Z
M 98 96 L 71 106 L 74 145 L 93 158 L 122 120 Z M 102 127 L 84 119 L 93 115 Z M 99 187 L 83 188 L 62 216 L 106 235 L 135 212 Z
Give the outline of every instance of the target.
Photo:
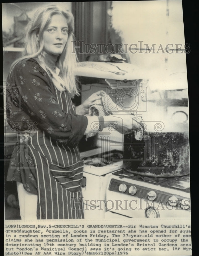
M 53 15 L 49 25 L 44 30 L 44 51 L 53 55 L 62 54 L 67 39 L 67 19 L 61 14 Z

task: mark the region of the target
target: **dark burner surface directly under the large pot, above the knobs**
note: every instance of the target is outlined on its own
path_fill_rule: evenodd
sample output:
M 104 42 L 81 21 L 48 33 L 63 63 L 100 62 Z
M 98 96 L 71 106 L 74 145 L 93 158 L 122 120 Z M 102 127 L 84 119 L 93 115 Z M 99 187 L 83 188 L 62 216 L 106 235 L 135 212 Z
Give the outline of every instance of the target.
M 139 174 L 133 174 L 128 172 L 125 169 L 118 170 L 113 173 L 113 175 L 120 176 L 121 179 L 123 177 L 140 180 L 146 183 L 160 185 L 162 187 L 174 188 L 178 190 L 182 190 L 184 192 L 190 193 L 190 177 L 189 175 L 181 176 L 181 177 L 172 177 L 172 178 L 161 178 L 161 177 L 150 177 L 150 176 L 142 176 Z

